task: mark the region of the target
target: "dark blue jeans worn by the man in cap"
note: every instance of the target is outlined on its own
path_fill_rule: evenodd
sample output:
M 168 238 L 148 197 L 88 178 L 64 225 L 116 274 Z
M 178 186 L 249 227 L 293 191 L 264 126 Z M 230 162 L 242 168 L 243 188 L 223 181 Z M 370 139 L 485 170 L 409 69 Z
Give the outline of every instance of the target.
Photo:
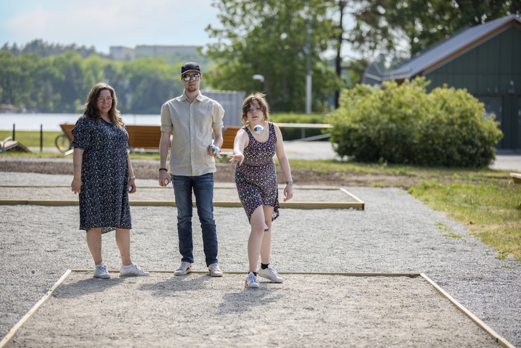
M 217 263 L 217 229 L 214 220 L 214 174 L 200 176 L 170 175 L 176 197 L 177 232 L 181 261 L 194 262 L 192 241 L 192 189 L 197 215 L 203 230 L 206 266 Z

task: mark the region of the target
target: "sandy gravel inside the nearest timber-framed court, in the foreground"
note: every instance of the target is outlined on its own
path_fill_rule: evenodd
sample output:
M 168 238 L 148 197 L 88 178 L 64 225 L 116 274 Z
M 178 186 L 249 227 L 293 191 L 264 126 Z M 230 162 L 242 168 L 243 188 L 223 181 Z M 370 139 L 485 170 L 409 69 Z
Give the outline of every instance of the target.
M 8 346 L 499 346 L 420 277 L 288 274 L 255 290 L 243 280 L 73 272 Z M 107 325 L 92 330 L 98 313 Z

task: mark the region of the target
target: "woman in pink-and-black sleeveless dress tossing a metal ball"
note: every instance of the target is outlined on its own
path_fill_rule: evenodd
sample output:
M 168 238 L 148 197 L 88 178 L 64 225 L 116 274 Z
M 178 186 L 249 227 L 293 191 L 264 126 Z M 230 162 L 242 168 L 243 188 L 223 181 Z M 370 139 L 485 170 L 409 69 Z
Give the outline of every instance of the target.
M 293 180 L 290 164 L 284 152 L 279 127 L 269 122 L 269 106 L 263 93 L 249 95 L 242 103 L 241 122 L 237 132 L 230 162 L 235 167 L 235 184 L 251 225 L 248 239 L 249 272 L 245 287 L 258 287 L 257 264 L 261 257 L 259 277 L 282 283 L 283 279 L 270 265 L 271 222 L 279 216 L 279 191 L 274 155 L 286 177 L 284 202 L 293 197 Z M 255 131 L 255 126 L 263 131 Z

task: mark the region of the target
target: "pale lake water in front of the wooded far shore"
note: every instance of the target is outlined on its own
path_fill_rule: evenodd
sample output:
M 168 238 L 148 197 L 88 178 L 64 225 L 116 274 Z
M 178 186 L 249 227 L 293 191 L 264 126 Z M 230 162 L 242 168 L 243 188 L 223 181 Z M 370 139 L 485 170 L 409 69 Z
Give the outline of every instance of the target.
M 0 114 L 0 130 L 38 130 L 59 131 L 62 123 L 76 123 L 80 114 Z M 161 125 L 160 115 L 121 115 L 128 125 Z

